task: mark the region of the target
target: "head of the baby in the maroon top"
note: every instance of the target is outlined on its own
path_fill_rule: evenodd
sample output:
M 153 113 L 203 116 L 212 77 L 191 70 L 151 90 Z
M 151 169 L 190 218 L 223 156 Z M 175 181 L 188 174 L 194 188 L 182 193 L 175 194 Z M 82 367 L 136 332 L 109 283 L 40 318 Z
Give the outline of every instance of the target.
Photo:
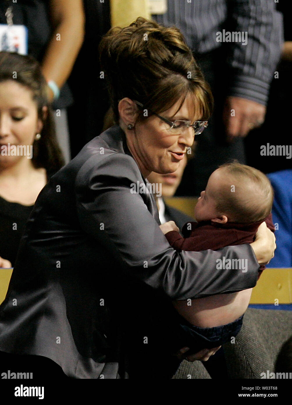
M 226 163 L 209 177 L 195 218 L 220 224 L 261 221 L 271 213 L 273 196 L 271 183 L 261 171 L 238 162 Z

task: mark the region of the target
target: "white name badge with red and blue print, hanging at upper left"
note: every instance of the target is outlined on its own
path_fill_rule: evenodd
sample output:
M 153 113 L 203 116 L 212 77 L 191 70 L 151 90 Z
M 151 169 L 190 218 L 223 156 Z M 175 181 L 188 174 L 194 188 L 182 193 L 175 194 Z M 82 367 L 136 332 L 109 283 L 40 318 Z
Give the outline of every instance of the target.
M 28 54 L 28 29 L 24 25 L 0 24 L 0 51 Z

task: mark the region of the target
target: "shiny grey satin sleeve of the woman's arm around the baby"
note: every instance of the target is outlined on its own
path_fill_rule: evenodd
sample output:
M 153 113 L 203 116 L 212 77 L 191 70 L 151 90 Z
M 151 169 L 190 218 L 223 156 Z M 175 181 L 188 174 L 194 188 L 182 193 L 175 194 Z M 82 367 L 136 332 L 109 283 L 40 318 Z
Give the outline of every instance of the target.
M 107 243 L 126 264 L 131 276 L 161 290 L 172 300 L 235 292 L 256 285 L 259 264 L 249 244 L 217 252 L 177 252 L 148 211 L 142 194 L 133 194 L 141 174 L 133 158 L 123 153 L 92 159 L 76 177 L 80 226 Z M 93 166 L 93 167 L 92 167 Z M 149 197 L 149 196 L 148 196 Z M 248 271 L 216 269 L 216 260 L 248 259 Z

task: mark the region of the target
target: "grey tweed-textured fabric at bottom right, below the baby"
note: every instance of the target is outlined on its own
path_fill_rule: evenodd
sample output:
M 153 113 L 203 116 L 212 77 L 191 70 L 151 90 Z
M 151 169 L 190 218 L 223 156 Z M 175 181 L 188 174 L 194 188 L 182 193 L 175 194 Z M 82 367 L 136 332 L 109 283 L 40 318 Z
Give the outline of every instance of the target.
M 260 378 L 274 371 L 282 344 L 292 335 L 292 311 L 248 308 L 235 343 L 226 343 L 224 352 L 229 378 Z M 200 361 L 183 361 L 175 379 L 211 378 Z

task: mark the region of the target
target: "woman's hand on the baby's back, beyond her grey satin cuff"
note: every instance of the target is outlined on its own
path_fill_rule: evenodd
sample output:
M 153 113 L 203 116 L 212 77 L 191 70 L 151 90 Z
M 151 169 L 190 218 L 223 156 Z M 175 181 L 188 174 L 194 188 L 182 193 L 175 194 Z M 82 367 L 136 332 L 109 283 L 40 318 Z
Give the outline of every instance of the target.
M 274 257 L 276 249 L 276 238 L 274 233 L 269 230 L 266 222 L 262 222 L 256 232 L 256 239 L 250 244 L 254 249 L 254 254 L 259 264 L 268 264 Z

